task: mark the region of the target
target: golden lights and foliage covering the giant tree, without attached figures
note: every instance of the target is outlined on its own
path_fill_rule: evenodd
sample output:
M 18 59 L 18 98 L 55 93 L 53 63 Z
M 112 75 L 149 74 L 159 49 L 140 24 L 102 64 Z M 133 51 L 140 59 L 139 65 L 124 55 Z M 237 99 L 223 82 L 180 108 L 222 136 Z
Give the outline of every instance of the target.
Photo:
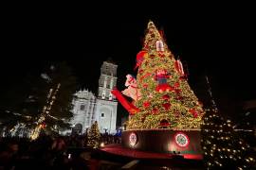
M 164 43 L 161 53 L 155 48 L 157 41 L 164 42 L 164 40 L 152 22 L 149 23 L 147 30 L 142 49 L 147 52 L 147 55 L 143 57 L 137 72 L 137 86 L 141 92 L 141 98 L 134 101 L 139 111 L 130 117 L 127 129 L 159 128 L 163 119 L 172 122 L 168 125 L 169 129 L 200 129 L 205 111 L 192 92 L 188 81 L 182 78 L 175 68 L 176 59 L 167 44 Z M 166 77 L 165 83 L 168 88 L 162 89 L 161 92 L 157 90 L 162 85 L 157 81 L 157 71 L 164 71 L 170 75 Z M 163 95 L 168 95 L 168 99 L 163 99 Z M 145 102 L 150 105 L 145 106 Z M 164 103 L 171 106 L 165 108 Z

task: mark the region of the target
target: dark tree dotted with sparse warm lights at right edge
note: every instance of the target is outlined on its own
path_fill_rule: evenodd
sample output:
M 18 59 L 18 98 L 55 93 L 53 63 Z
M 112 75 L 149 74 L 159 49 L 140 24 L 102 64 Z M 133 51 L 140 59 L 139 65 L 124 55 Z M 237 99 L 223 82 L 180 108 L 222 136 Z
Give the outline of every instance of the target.
M 207 77 L 207 82 L 209 80 Z M 208 169 L 251 169 L 255 156 L 251 148 L 236 133 L 229 119 L 220 115 L 214 100 L 211 98 L 210 109 L 206 110 L 202 125 L 202 148 L 204 161 Z

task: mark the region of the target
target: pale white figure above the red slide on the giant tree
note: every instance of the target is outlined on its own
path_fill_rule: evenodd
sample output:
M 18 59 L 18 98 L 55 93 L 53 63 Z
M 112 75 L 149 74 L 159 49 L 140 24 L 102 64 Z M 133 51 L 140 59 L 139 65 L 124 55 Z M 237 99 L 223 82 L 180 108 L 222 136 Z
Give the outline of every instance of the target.
M 137 80 L 132 75 L 126 76 L 125 87 L 127 87 L 123 93 L 126 96 L 133 98 L 135 101 L 141 98 L 140 90 L 137 88 Z

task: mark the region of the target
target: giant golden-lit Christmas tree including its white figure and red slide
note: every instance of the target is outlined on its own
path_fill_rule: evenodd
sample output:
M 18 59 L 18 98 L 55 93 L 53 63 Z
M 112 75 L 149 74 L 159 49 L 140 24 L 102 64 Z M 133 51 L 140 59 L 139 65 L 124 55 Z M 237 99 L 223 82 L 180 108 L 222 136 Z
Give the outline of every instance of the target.
M 153 22 L 148 23 L 136 69 L 137 78 L 126 76 L 127 89 L 112 92 L 130 112 L 127 129 L 200 128 L 204 111 L 188 84 L 181 61 L 174 59 Z M 128 102 L 122 94 L 134 101 Z

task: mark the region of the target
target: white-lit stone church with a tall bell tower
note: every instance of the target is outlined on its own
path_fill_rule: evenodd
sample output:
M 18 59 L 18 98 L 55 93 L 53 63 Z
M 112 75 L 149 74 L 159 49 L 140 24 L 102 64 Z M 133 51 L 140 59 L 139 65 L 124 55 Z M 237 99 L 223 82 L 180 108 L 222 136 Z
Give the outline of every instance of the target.
M 98 95 L 88 90 L 74 94 L 71 120 L 72 132 L 84 133 L 86 128 L 98 121 L 101 133 L 116 133 L 118 102 L 111 91 L 117 84 L 118 65 L 111 61 L 103 61 L 99 79 Z

